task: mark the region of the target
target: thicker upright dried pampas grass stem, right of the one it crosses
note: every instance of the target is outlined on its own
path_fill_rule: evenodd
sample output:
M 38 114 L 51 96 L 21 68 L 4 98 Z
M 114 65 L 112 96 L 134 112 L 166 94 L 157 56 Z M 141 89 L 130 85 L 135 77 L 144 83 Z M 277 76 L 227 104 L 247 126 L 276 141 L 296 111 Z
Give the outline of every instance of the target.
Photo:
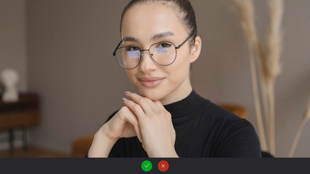
M 270 153 L 275 155 L 275 79 L 280 74 L 281 66 L 279 63 L 282 52 L 282 29 L 281 21 L 283 16 L 283 0 L 269 0 L 270 27 L 267 35 L 266 56 L 261 57 L 263 66 L 264 83 L 269 103 L 269 145 Z

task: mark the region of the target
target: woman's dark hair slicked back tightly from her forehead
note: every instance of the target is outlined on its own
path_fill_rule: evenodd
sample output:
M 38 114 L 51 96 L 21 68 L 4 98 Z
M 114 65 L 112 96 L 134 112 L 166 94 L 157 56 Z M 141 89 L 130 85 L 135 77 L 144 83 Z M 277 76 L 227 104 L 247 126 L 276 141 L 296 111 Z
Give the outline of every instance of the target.
M 121 16 L 121 24 L 120 29 L 122 28 L 122 21 L 125 13 L 128 11 L 130 7 L 135 4 L 143 4 L 147 2 L 162 2 L 163 4 L 173 8 L 182 24 L 186 26 L 188 30 L 188 34 L 193 34 L 193 38 L 197 36 L 197 24 L 196 24 L 196 16 L 195 11 L 192 7 L 191 2 L 188 0 L 131 0 L 124 8 Z

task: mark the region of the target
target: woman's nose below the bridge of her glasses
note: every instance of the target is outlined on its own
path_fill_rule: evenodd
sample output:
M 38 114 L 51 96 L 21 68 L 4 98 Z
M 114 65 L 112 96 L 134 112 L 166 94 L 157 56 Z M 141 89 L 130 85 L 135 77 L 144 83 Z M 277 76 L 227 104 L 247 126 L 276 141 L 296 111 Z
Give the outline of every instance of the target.
M 157 69 L 157 65 L 150 55 L 150 50 L 149 49 L 141 50 L 141 62 L 139 65 L 139 70 L 144 73 L 149 73 L 156 69 Z

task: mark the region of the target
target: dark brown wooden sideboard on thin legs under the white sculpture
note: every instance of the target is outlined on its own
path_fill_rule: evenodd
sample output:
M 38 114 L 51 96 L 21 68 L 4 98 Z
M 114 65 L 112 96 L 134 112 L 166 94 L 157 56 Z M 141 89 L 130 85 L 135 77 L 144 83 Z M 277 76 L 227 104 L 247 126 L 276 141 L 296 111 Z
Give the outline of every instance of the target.
M 14 148 L 14 130 L 22 130 L 23 148 L 27 149 L 27 128 L 40 123 L 40 98 L 36 93 L 20 93 L 16 102 L 0 98 L 0 131 L 8 131 L 10 149 Z

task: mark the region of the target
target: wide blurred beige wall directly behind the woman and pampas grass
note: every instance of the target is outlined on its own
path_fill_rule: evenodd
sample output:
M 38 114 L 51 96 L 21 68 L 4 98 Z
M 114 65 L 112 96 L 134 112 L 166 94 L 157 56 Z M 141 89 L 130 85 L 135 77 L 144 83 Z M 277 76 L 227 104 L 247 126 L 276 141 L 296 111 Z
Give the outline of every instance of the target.
M 29 91 L 42 98 L 42 122 L 30 130 L 32 144 L 69 153 L 75 138 L 97 131 L 123 105 L 125 90 L 136 91 L 112 57 L 120 41 L 120 14 L 128 1 L 26 1 L 27 63 L 20 63 L 28 69 Z M 215 103 L 245 106 L 248 120 L 257 128 L 247 43 L 238 18 L 229 10 L 230 1 L 191 2 L 203 41 L 201 56 L 193 65 L 194 89 Z M 268 27 L 265 2 L 255 0 L 261 39 Z M 15 3 L 22 6 L 24 1 Z M 285 6 L 283 69 L 275 91 L 277 157 L 288 155 L 310 99 L 310 1 L 285 0 Z M 310 157 L 309 137 L 310 123 L 294 156 Z

